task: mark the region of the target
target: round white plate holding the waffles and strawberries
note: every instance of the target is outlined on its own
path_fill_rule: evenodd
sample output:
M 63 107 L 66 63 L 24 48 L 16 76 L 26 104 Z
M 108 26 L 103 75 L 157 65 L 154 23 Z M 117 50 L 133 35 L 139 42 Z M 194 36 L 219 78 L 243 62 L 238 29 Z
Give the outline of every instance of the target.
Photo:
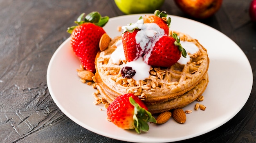
M 110 18 L 104 29 L 115 37 L 121 35 L 118 26 L 136 22 L 139 16 L 126 15 Z M 182 17 L 172 18 L 171 29 L 189 34 L 208 50 L 209 84 L 204 92 L 205 111 L 195 111 L 195 102 L 184 110 L 185 124 L 172 118 L 165 124 L 150 124 L 150 130 L 142 134 L 122 130 L 106 119 L 106 109 L 93 104 L 94 89 L 79 81 L 76 69 L 80 62 L 72 52 L 67 39 L 52 56 L 47 69 L 47 85 L 54 102 L 67 117 L 80 126 L 106 137 L 130 142 L 172 142 L 189 139 L 207 133 L 225 124 L 245 105 L 252 90 L 252 68 L 243 51 L 227 36 L 202 23 Z M 103 110 L 99 110 L 102 108 Z M 235 126 L 235 125 L 234 125 Z

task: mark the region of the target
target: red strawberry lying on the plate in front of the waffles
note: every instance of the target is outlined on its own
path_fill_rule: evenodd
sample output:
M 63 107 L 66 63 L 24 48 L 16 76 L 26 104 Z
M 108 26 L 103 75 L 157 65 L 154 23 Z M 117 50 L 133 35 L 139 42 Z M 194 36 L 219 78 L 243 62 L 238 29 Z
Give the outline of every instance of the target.
M 122 129 L 148 131 L 147 122 L 156 123 L 146 105 L 132 93 L 117 97 L 107 108 L 108 119 Z

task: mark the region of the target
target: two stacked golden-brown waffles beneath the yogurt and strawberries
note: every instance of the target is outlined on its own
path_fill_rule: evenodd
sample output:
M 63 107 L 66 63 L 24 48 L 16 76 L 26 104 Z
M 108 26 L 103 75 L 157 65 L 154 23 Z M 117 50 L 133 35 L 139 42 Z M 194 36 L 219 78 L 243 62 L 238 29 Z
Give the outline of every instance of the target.
M 175 32 L 180 36 L 181 41 L 193 42 L 199 51 L 193 55 L 189 54 L 191 61 L 186 65 L 175 63 L 171 67 L 151 67 L 150 76 L 145 80 L 133 80 L 132 78 L 123 78 L 120 70 L 126 64 L 126 61 L 120 61 L 120 64 L 114 64 L 110 58 L 115 51 L 115 42 L 121 37 L 115 37 L 109 44 L 109 47 L 97 54 L 95 65 L 96 73 L 94 81 L 101 95 L 111 103 L 117 96 L 133 93 L 137 95 L 154 113 L 179 107 L 171 107 L 168 104 L 177 99 L 180 105 L 186 105 L 193 102 L 196 97 L 202 94 L 208 83 L 207 70 L 209 67 L 209 58 L 207 50 L 189 35 Z M 202 81 L 202 82 L 201 82 Z M 204 81 L 204 82 L 203 82 Z M 202 92 L 194 92 L 197 89 Z M 183 97 L 193 98 L 181 98 Z M 152 108 L 151 108 L 152 107 Z M 160 108 L 162 107 L 162 108 Z M 159 110 L 158 110 L 159 109 Z

